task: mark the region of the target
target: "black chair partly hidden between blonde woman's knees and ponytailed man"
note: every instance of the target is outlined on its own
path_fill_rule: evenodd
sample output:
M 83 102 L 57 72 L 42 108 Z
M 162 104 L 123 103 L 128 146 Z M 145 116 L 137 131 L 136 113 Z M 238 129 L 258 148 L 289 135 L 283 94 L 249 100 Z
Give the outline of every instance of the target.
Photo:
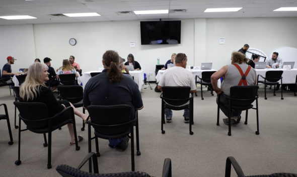
M 59 85 L 58 86 L 60 100 L 67 100 L 75 108 L 83 107 L 83 95 L 84 89 L 79 85 Z M 83 107 L 83 113 L 85 114 L 85 108 Z M 85 130 L 85 124 L 83 121 L 82 131 Z

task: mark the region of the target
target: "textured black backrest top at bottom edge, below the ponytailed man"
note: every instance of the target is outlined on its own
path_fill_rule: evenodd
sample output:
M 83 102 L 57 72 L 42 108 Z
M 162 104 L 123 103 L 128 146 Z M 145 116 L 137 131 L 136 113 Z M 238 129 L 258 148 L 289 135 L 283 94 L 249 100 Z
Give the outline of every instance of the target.
M 66 173 L 70 176 L 75 176 L 75 177 L 92 177 L 92 176 L 102 176 L 102 177 L 107 177 L 107 176 L 113 176 L 113 177 L 150 177 L 149 174 L 141 171 L 129 171 L 129 172 L 120 172 L 120 173 L 108 173 L 108 174 L 100 174 L 100 173 L 89 173 L 86 171 L 81 171 L 77 168 L 73 168 L 68 165 L 59 165 L 56 167 L 56 170 L 58 172 Z

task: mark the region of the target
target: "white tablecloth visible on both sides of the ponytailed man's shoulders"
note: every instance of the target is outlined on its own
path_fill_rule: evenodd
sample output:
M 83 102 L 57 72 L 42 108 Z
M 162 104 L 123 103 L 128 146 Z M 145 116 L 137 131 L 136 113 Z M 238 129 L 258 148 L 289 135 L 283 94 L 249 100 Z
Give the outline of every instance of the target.
M 87 82 L 89 81 L 89 79 L 92 77 L 91 72 L 99 72 L 99 71 L 89 71 L 89 72 L 83 73 L 82 83 L 83 83 L 84 88 L 85 88 Z M 141 88 L 142 88 L 142 85 L 143 85 L 143 80 L 144 80 L 143 71 L 142 70 L 140 70 L 140 71 L 129 71 L 129 73 L 130 73 L 131 76 L 134 76 L 134 81 L 135 81 L 135 83 L 137 83 L 139 91 L 141 91 Z

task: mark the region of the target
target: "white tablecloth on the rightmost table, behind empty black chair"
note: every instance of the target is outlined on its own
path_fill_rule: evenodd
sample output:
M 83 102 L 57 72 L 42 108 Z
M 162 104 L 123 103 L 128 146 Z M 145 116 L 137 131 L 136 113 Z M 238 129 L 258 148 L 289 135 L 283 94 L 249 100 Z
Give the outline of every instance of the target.
M 295 83 L 296 75 L 297 75 L 297 69 L 256 69 L 257 76 L 258 74 L 265 77 L 265 74 L 267 71 L 279 71 L 282 70 L 282 83 Z M 264 80 L 262 77 L 259 76 L 259 80 Z M 280 83 L 280 80 L 278 81 Z

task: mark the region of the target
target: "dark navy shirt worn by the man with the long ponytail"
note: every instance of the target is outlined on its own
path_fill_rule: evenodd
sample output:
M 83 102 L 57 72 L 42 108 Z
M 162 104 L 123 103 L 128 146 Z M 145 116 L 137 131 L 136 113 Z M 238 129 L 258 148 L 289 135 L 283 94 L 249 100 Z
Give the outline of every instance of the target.
M 130 105 L 130 118 L 134 118 L 135 109 L 143 107 L 140 92 L 134 80 L 123 77 L 111 83 L 107 77 L 108 69 L 104 69 L 87 82 L 84 90 L 84 107 L 90 105 Z

